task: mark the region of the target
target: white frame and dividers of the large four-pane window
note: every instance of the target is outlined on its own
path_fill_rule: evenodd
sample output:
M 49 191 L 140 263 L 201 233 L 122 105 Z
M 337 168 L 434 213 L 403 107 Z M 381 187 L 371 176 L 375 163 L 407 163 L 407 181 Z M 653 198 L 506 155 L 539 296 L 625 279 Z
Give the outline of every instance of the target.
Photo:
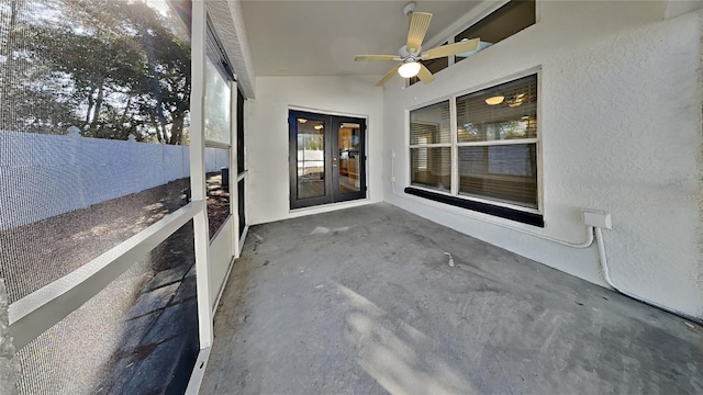
M 473 93 L 473 92 L 478 92 L 481 90 L 486 90 L 486 89 L 490 89 L 492 87 L 499 86 L 501 83 L 505 83 L 505 82 L 510 82 L 523 77 L 527 77 L 531 75 L 537 75 L 537 92 L 538 94 L 540 94 L 542 92 L 542 66 L 538 67 L 534 67 L 514 75 L 511 75 L 509 77 L 504 77 L 504 78 L 500 78 L 487 83 L 482 83 L 479 86 L 476 86 L 473 88 L 470 89 L 466 89 L 459 92 L 456 92 L 449 97 L 443 97 L 439 98 L 437 100 L 431 101 L 431 102 L 426 102 L 413 108 L 409 108 L 406 111 L 406 116 L 405 116 L 405 125 L 406 125 L 406 129 L 405 129 L 405 138 L 406 138 L 406 146 L 408 146 L 408 184 L 405 187 L 409 188 L 413 188 L 413 189 L 417 189 L 417 190 L 422 190 L 422 191 L 427 191 L 427 192 L 432 192 L 432 193 L 437 193 L 437 194 L 443 194 L 443 195 L 447 195 L 447 196 L 451 196 L 451 198 L 457 198 L 457 199 L 462 199 L 466 201 L 473 201 L 473 202 L 479 202 L 479 203 L 484 203 L 484 204 L 490 204 L 490 205 L 494 205 L 494 206 L 500 206 L 500 207 L 505 207 L 505 208 L 510 208 L 510 210 L 515 210 L 515 211 L 521 211 L 521 212 L 526 212 L 526 213 L 533 213 L 533 214 L 539 214 L 543 215 L 544 214 L 544 199 L 543 199 L 543 177 L 542 177 L 542 161 L 543 161 L 543 155 L 542 155 L 542 127 L 540 127 L 540 120 L 542 120 L 542 100 L 539 99 L 539 97 L 537 98 L 537 125 L 536 125 L 536 131 L 537 131 L 537 137 L 536 138 L 521 138 L 521 139 L 514 139 L 514 140 L 489 140 L 489 142 L 467 142 L 467 143 L 459 143 L 458 142 L 458 131 L 457 131 L 457 99 L 469 94 L 469 93 Z M 450 127 L 450 134 L 451 134 L 451 143 L 447 144 L 447 143 L 443 143 L 443 144 L 427 144 L 427 145 L 417 145 L 417 144 L 410 144 L 411 139 L 410 139 L 410 135 L 411 135 L 411 122 L 410 122 L 410 116 L 411 113 L 415 110 L 421 110 L 437 103 L 442 103 L 444 101 L 449 100 L 449 127 Z M 507 203 L 507 202 L 503 202 L 503 201 L 498 201 L 498 200 L 491 200 L 491 199 L 487 199 L 487 198 L 480 198 L 480 196 L 471 196 L 471 195 L 466 195 L 466 194 L 459 194 L 459 147 L 470 147 L 470 146 L 498 146 L 498 145 L 523 145 L 523 144 L 535 144 L 536 146 L 536 155 L 537 155 L 537 160 L 536 160 L 536 166 L 537 166 L 537 208 L 532 208 L 532 207 L 526 207 L 523 205 L 518 205 L 518 204 L 514 204 L 514 203 Z M 447 192 L 447 191 L 443 191 L 443 190 L 438 190 L 438 189 L 433 189 L 429 187 L 423 187 L 423 185 L 415 185 L 412 183 L 412 162 L 411 162 L 411 158 L 412 158 L 412 154 L 411 154 L 411 149 L 413 148 L 432 148 L 432 147 L 451 147 L 451 191 Z

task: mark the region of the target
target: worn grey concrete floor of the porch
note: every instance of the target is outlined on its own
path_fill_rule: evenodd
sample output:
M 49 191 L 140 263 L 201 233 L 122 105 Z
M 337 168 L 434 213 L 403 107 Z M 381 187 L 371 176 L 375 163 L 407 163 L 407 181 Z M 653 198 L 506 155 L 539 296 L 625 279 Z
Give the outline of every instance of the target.
M 201 394 L 386 393 L 701 394 L 703 330 L 388 204 L 252 227 Z

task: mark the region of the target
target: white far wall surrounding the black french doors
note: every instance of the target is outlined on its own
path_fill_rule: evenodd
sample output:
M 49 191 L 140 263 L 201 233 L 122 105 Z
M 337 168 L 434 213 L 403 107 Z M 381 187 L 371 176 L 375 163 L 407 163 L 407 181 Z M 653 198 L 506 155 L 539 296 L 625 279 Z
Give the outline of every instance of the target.
M 247 101 L 247 215 L 260 224 L 339 207 L 380 202 L 383 94 L 376 77 L 257 77 L 256 100 Z M 291 212 L 288 111 L 367 117 L 367 200 Z

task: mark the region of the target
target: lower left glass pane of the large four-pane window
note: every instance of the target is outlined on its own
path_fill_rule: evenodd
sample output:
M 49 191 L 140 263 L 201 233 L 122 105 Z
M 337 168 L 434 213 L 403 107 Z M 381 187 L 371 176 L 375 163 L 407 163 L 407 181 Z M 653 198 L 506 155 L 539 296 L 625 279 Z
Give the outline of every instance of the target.
M 451 190 L 451 148 L 411 148 L 411 184 Z

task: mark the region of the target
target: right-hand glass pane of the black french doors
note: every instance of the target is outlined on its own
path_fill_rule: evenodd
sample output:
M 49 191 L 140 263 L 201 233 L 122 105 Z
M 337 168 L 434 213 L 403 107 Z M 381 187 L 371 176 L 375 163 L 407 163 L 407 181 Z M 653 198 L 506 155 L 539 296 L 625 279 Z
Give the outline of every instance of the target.
M 359 179 L 361 126 L 355 123 L 343 123 L 338 133 L 339 193 L 358 192 L 361 190 Z

